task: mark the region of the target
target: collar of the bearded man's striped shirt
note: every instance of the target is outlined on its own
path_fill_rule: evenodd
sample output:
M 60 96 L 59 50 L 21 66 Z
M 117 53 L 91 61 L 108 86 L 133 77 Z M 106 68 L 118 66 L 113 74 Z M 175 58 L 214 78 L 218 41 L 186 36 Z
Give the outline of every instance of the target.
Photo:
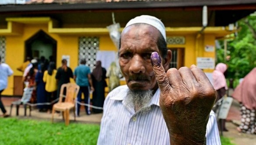
M 119 90 L 119 93 L 116 94 L 115 96 L 113 96 L 110 99 L 111 100 L 116 100 L 116 101 L 123 101 L 126 98 L 128 91 L 129 91 L 129 88 L 126 85 L 126 88 L 124 88 L 122 90 Z M 158 88 L 157 91 L 154 93 L 154 95 L 153 95 L 153 97 L 152 97 L 148 106 L 151 106 L 151 105 L 160 106 L 159 105 L 159 97 L 160 97 L 160 90 Z

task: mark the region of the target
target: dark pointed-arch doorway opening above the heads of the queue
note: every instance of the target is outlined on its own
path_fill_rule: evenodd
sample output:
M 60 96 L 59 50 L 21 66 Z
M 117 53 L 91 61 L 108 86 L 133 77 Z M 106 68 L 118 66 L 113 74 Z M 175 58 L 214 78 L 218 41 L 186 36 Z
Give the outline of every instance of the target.
M 35 35 L 26 40 L 25 48 L 25 58 L 37 57 L 40 59 L 40 57 L 44 56 L 48 61 L 54 61 L 56 63 L 57 41 L 43 30 L 39 30 Z

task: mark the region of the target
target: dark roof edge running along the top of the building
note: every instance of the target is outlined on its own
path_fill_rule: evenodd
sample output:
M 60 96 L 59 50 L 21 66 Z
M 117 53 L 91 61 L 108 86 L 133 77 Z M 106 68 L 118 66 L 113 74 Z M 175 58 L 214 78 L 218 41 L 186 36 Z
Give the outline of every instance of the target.
M 210 9 L 255 9 L 255 0 L 184 0 L 175 1 L 135 1 L 135 2 L 112 2 L 112 3 L 43 3 L 43 4 L 8 4 L 0 5 L 0 13 L 11 12 L 43 12 L 43 11 L 65 11 L 65 10 L 129 10 L 129 9 L 172 9 L 172 8 L 197 8 L 207 5 Z

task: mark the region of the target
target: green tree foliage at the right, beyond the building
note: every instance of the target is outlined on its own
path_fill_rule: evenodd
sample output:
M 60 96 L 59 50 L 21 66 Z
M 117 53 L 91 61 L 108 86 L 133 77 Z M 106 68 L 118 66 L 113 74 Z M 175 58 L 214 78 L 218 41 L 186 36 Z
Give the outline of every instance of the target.
M 217 49 L 217 63 L 228 64 L 227 78 L 243 78 L 256 67 L 256 15 L 250 15 L 238 21 L 239 31 L 232 40 L 227 40 L 227 55 L 224 58 L 224 42 L 220 41 L 221 48 Z

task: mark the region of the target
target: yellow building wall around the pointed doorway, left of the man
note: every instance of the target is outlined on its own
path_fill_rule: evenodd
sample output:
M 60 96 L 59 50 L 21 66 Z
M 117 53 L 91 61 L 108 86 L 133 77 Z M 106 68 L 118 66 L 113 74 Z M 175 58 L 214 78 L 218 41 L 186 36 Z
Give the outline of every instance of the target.
M 8 86 L 2 93 L 3 95 L 13 95 L 14 92 L 14 76 L 22 76 L 23 73 L 16 68 L 22 64 L 25 58 L 25 41 L 36 34 L 39 30 L 43 30 L 49 36 L 57 41 L 56 52 L 56 66 L 61 66 L 61 59 L 63 55 L 70 56 L 70 68 L 74 71 L 78 65 L 78 37 L 83 35 L 57 35 L 48 33 L 47 24 L 26 24 L 22 25 L 24 33 L 20 36 L 6 36 L 6 63 L 10 65 L 14 74 L 8 78 Z M 95 36 L 95 35 L 92 35 Z M 102 35 L 100 37 L 99 50 L 100 51 L 117 51 L 117 48 L 112 43 L 109 35 Z M 74 82 L 73 79 L 70 79 Z M 123 83 L 121 83 L 123 84 Z

